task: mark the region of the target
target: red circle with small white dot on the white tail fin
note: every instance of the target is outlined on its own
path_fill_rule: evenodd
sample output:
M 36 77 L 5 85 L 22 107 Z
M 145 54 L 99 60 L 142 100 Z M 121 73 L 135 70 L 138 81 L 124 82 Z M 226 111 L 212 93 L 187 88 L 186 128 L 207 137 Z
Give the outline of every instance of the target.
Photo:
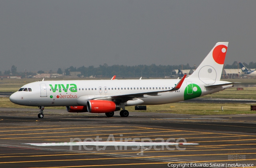
M 212 51 L 212 57 L 218 64 L 224 64 L 228 47 L 226 45 L 218 45 Z

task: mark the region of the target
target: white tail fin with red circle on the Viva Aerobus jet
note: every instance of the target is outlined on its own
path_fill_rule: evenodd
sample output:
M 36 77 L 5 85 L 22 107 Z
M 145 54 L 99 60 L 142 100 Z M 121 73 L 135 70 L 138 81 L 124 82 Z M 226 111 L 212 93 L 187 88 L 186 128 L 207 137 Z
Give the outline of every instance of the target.
M 203 62 L 188 78 L 197 78 L 204 83 L 207 82 L 207 84 L 209 84 L 208 80 L 213 80 L 213 83 L 220 80 L 227 49 L 228 42 L 216 43 Z

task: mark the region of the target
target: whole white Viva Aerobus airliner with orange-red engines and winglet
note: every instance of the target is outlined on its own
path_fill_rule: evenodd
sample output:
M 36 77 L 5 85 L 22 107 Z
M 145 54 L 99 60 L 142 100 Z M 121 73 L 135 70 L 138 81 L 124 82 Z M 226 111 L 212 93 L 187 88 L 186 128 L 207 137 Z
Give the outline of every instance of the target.
M 145 80 L 57 80 L 32 82 L 10 96 L 10 101 L 38 106 L 39 118 L 44 107 L 66 106 L 68 112 L 105 113 L 112 117 L 125 106 L 158 105 L 193 99 L 233 87 L 220 81 L 228 42 L 218 42 L 191 76 L 179 79 Z

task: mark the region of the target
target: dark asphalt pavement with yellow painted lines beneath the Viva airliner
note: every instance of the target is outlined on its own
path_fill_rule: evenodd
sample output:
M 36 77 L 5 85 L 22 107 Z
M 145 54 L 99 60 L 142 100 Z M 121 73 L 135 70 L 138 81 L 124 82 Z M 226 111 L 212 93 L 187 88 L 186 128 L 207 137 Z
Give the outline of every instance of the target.
M 129 117 L 120 117 L 115 112 L 114 117 L 108 118 L 105 114 L 68 113 L 47 108 L 44 118 L 39 119 L 37 114 L 36 108 L 0 107 L 1 168 L 168 167 L 168 163 L 189 164 L 185 167 L 195 167 L 195 163 L 205 163 L 208 167 L 226 167 L 226 164 L 234 167 L 232 164 L 236 163 L 256 166 L 256 114 L 197 116 L 130 112 Z M 198 144 L 58 146 L 60 142 L 85 140 L 169 140 Z M 33 146 L 28 143 L 56 144 Z

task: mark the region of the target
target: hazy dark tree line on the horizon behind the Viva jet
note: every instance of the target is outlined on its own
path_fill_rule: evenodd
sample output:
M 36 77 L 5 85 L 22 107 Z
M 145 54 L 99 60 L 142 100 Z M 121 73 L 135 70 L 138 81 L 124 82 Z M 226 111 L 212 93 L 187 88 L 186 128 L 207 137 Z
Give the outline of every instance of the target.
M 250 62 L 249 64 L 243 63 L 245 67 L 249 69 L 255 69 L 256 63 Z M 117 75 L 119 77 L 164 77 L 164 76 L 171 76 L 174 75 L 172 72 L 174 69 L 195 69 L 195 66 L 187 65 L 136 65 L 136 66 L 125 66 L 125 65 L 112 65 L 108 66 L 107 64 L 100 65 L 99 67 L 89 66 L 89 67 L 69 67 L 67 69 L 62 70 L 59 68 L 57 72 L 53 72 L 49 70 L 49 72 L 45 72 L 43 70 L 39 70 L 37 73 L 58 73 L 69 76 L 70 72 L 81 72 L 80 76 L 89 77 L 89 76 L 96 76 L 96 77 L 112 77 Z M 224 65 L 225 69 L 240 69 L 238 66 L 238 62 L 234 61 L 232 65 Z M 0 71 L 0 75 L 16 75 L 25 77 L 25 75 L 36 75 L 35 72 L 17 72 L 17 67 L 13 65 L 11 70 L 5 70 L 2 74 Z

